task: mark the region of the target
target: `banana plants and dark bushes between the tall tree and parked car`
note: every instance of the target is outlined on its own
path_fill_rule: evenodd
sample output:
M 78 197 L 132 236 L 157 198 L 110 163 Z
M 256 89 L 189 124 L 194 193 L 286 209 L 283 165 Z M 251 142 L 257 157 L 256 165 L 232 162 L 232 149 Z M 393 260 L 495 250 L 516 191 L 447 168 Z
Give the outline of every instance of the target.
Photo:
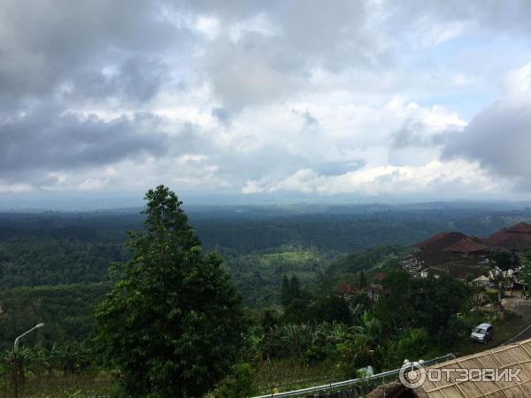
M 412 279 L 401 270 L 383 280 L 373 306 L 366 295 L 348 300 L 321 296 L 304 305 L 294 299 L 283 314 L 265 312 L 263 325 L 246 339 L 250 361 L 334 361 L 344 377 L 372 365 L 394 369 L 404 358 L 446 352 L 467 332 L 458 313 L 471 309 L 471 290 L 457 279 Z

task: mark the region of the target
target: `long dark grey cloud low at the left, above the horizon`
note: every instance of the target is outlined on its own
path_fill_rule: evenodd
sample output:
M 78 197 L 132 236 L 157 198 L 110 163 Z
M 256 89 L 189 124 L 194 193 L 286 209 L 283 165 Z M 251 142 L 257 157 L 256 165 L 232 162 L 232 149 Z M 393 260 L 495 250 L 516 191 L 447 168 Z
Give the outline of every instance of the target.
M 158 132 L 161 124 L 150 114 L 105 121 L 39 107 L 0 125 L 0 178 L 18 180 L 28 172 L 43 176 L 124 158 L 162 156 L 168 137 Z

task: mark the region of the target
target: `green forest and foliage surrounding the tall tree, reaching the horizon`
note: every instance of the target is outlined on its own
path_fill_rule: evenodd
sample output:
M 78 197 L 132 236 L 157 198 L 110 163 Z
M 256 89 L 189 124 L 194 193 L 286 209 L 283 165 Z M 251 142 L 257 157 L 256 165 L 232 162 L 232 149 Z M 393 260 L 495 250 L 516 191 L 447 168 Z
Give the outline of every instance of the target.
M 395 274 L 400 259 L 413 242 L 433 233 L 459 230 L 485 236 L 531 218 L 527 209 L 436 204 L 209 207 L 188 212 L 204 252 L 222 256 L 221 267 L 242 295 L 250 328 L 244 364 L 235 368 L 235 375 L 254 378 L 255 387 L 275 366 L 286 377 L 298 378 L 289 376 L 285 367 L 319 369 L 327 364 L 341 378 L 355 376 L 356 369 L 368 364 L 380 370 L 396 366 L 407 352 L 444 353 L 451 345 L 448 336 L 468 328 L 455 314 L 469 308 L 471 292 L 450 279 L 419 285 Z M 75 372 L 93 366 L 87 359 L 92 356 L 92 314 L 116 281 L 112 269 L 117 268 L 110 265 L 124 264 L 131 256 L 131 248 L 124 246 L 127 230 L 137 229 L 142 219 L 136 210 L 0 214 L 0 348 L 10 348 L 19 333 L 44 322 L 41 332 L 25 339 L 27 366 L 41 369 L 51 361 L 42 359 L 42 353 L 54 352 L 68 358 L 67 364 L 58 365 L 61 369 Z M 337 295 L 341 284 L 358 291 L 382 272 L 392 275 L 382 282 L 391 295 L 377 306 L 366 294 L 348 301 Z M 426 311 L 421 297 L 401 293 L 404 287 L 438 297 L 439 310 Z M 446 295 L 449 291 L 453 294 Z M 418 308 L 397 310 L 400 302 Z M 441 328 L 450 333 L 438 334 Z M 381 344 L 385 333 L 389 339 Z M 346 356 L 355 358 L 349 366 L 334 362 Z M 9 369 L 5 360 L 0 361 L 0 373 Z M 267 388 L 264 383 L 262 388 Z

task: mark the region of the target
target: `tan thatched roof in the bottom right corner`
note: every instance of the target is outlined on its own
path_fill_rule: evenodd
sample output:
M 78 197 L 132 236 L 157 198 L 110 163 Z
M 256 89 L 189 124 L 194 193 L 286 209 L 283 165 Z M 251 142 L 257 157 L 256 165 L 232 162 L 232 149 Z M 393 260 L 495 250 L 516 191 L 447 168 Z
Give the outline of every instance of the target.
M 426 380 L 416 389 L 398 386 L 396 383 L 382 386 L 367 395 L 380 397 L 417 397 L 417 398 L 520 398 L 531 397 L 531 339 L 514 344 L 488 349 L 472 356 L 462 356 L 430 368 L 439 369 L 521 369 L 519 379 L 512 381 L 462 381 L 456 382 L 458 373 L 450 373 L 450 381 L 443 377 L 441 381 Z

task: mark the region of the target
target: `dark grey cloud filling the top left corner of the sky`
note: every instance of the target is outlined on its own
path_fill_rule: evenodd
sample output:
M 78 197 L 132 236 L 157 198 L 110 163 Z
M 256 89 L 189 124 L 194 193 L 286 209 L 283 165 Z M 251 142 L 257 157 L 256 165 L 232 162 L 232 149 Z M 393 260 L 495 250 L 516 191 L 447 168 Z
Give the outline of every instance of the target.
M 0 92 L 16 101 L 50 93 L 77 73 L 101 70 L 127 55 L 150 57 L 181 34 L 150 4 L 4 0 L 0 12 Z M 127 65 L 126 65 L 127 67 Z M 131 65 L 129 66 L 131 67 Z

